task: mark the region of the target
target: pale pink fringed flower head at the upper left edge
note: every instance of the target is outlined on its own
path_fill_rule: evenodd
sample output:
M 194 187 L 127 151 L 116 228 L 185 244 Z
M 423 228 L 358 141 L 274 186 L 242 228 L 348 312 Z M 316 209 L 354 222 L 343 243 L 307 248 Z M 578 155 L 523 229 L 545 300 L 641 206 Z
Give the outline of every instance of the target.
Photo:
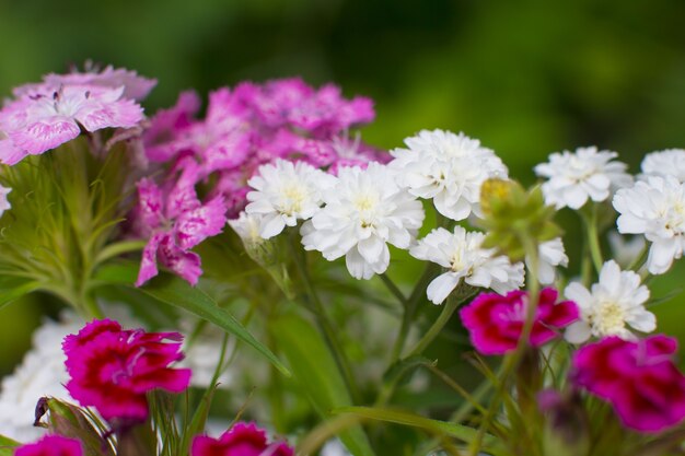
M 37 155 L 74 139 L 81 128 L 96 131 L 136 126 L 142 119 L 142 108 L 121 98 L 123 92 L 124 87 L 98 85 L 34 87 L 0 110 L 0 129 L 20 150 L 0 160 L 13 165 L 28 154 Z

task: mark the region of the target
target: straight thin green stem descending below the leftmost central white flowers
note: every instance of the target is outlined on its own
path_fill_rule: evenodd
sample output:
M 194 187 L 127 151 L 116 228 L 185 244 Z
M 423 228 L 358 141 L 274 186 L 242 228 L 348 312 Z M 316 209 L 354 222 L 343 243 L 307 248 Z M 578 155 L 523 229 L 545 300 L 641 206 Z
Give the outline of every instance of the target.
M 293 233 L 297 234 L 297 232 Z M 361 396 L 359 394 L 359 389 L 357 388 L 357 383 L 355 382 L 355 376 L 352 375 L 352 370 L 350 367 L 349 361 L 345 355 L 345 351 L 342 350 L 342 346 L 338 340 L 337 332 L 334 329 L 334 326 L 328 320 L 328 316 L 326 315 L 321 299 L 318 297 L 318 294 L 316 293 L 316 290 L 312 284 L 312 279 L 310 278 L 306 268 L 304 255 L 302 252 L 298 252 L 298 249 L 295 248 L 293 237 L 294 236 L 291 236 L 288 245 L 290 246 L 292 258 L 294 260 L 298 272 L 302 278 L 302 283 L 304 284 L 306 296 L 305 304 L 307 304 L 307 307 L 314 314 L 316 325 L 322 331 L 324 340 L 326 341 L 328 349 L 333 353 L 333 356 L 335 358 L 336 363 L 340 369 L 340 372 L 342 373 L 342 377 L 345 378 L 345 383 L 347 384 L 347 388 L 350 393 L 350 396 L 352 397 L 352 400 L 355 402 L 358 402 Z

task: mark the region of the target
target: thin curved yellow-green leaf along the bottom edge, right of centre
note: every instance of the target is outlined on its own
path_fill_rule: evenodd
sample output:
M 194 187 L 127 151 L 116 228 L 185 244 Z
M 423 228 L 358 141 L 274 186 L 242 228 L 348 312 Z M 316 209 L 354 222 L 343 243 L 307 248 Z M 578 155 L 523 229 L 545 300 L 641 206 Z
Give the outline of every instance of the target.
M 468 428 L 457 423 L 451 423 L 448 421 L 431 420 L 430 418 L 425 418 L 402 410 L 379 409 L 371 407 L 342 407 L 336 409 L 334 412 L 352 413 L 370 420 L 419 428 L 433 434 L 446 434 L 466 443 L 476 439 L 476 435 L 478 434 L 477 429 Z M 492 456 L 503 454 L 500 441 L 491 434 L 486 434 L 484 436 L 481 449 L 491 454 Z

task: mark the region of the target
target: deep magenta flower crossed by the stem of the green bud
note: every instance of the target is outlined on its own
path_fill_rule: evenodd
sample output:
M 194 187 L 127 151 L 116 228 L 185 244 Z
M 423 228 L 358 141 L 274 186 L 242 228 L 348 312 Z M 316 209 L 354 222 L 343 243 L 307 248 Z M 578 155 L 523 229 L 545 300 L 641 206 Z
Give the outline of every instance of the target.
M 557 303 L 558 292 L 546 288 L 539 293 L 531 331 L 531 346 L 541 347 L 560 336 L 559 329 L 579 318 L 572 301 Z M 527 314 L 527 292 L 515 290 L 506 296 L 480 293 L 461 311 L 471 341 L 483 354 L 504 354 L 515 350 Z

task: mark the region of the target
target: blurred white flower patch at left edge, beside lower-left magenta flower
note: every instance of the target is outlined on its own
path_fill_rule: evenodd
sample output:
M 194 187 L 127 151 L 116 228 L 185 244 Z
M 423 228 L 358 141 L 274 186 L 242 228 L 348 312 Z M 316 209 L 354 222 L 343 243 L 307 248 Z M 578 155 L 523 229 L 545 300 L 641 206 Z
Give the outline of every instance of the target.
M 65 321 L 46 319 L 33 335 L 33 348 L 26 352 L 12 375 L 2 378 L 0 390 L 0 433 L 20 442 L 28 442 L 45 434 L 34 428 L 38 399 L 53 396 L 70 402 L 63 385 L 69 381 L 61 351 L 65 336 L 78 332 L 83 321 L 69 315 Z

